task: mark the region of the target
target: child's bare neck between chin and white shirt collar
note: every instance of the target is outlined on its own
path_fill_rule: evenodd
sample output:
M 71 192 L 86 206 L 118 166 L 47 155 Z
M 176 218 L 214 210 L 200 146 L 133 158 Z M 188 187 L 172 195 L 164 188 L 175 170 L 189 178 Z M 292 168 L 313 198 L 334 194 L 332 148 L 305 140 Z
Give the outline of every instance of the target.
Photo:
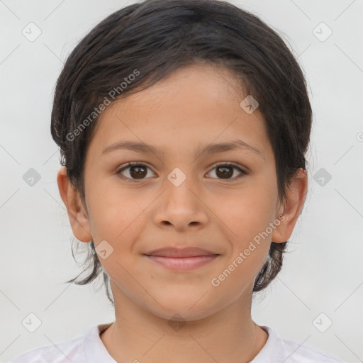
M 122 297 L 122 298 L 121 298 Z M 115 299 L 116 321 L 101 340 L 117 362 L 250 362 L 267 341 L 267 333 L 250 315 L 242 297 L 199 320 L 171 322 Z

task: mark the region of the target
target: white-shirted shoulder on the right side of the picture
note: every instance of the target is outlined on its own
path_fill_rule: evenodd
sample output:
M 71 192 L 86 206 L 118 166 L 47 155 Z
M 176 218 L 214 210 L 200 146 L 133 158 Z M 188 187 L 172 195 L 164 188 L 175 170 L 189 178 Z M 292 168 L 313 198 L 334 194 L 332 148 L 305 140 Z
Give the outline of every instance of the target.
M 343 363 L 340 359 L 319 352 L 294 340 L 279 337 L 267 326 L 261 326 L 269 334 L 266 344 L 251 363 L 284 362 L 284 363 Z

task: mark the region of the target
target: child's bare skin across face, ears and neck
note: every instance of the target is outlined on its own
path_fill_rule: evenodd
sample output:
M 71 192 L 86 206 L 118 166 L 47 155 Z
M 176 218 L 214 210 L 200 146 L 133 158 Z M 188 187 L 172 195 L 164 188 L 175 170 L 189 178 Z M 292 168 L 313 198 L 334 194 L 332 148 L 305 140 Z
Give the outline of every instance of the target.
M 279 199 L 264 118 L 258 108 L 251 114 L 241 108 L 244 97 L 224 69 L 180 68 L 101 114 L 86 152 L 86 205 L 65 167 L 57 174 L 74 236 L 82 242 L 93 239 L 96 248 L 103 240 L 113 247 L 100 260 L 110 277 L 116 320 L 101 340 L 117 362 L 249 362 L 267 341 L 251 318 L 253 284 L 271 241 L 284 242 L 294 230 L 307 175 L 299 169 L 286 201 Z M 195 154 L 197 147 L 237 138 L 260 153 L 240 148 Z M 120 149 L 102 155 L 121 140 L 154 145 L 164 154 Z M 117 174 L 127 162 L 150 169 L 141 170 L 141 179 L 130 167 Z M 230 177 L 223 177 L 217 162 L 232 162 L 247 174 L 232 168 L 227 169 Z M 179 186 L 167 179 L 176 167 L 186 176 Z M 284 221 L 213 286 L 211 279 L 281 213 Z M 191 245 L 220 256 L 180 272 L 143 255 Z M 168 324 L 176 313 L 185 323 L 179 330 Z

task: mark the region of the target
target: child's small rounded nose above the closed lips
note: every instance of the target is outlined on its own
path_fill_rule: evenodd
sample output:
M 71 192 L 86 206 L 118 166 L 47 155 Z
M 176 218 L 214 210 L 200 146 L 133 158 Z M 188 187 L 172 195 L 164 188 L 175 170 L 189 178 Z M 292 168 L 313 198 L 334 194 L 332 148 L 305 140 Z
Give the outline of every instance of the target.
M 164 192 L 155 204 L 154 221 L 160 228 L 178 231 L 203 228 L 209 220 L 203 193 L 189 177 L 179 185 L 165 181 Z

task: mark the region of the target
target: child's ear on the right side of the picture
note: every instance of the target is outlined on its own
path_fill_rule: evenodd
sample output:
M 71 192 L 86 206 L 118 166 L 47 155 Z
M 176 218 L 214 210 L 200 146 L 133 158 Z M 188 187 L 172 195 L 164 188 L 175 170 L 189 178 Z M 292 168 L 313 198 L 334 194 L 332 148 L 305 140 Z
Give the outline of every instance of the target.
M 289 240 L 294 230 L 296 220 L 303 209 L 303 203 L 306 199 L 308 190 L 308 176 L 306 170 L 300 168 L 296 175 L 286 188 L 286 201 L 280 208 L 278 216 L 283 213 L 284 216 L 279 218 L 279 225 L 275 223 L 276 228 L 272 233 L 272 242 L 285 242 Z

